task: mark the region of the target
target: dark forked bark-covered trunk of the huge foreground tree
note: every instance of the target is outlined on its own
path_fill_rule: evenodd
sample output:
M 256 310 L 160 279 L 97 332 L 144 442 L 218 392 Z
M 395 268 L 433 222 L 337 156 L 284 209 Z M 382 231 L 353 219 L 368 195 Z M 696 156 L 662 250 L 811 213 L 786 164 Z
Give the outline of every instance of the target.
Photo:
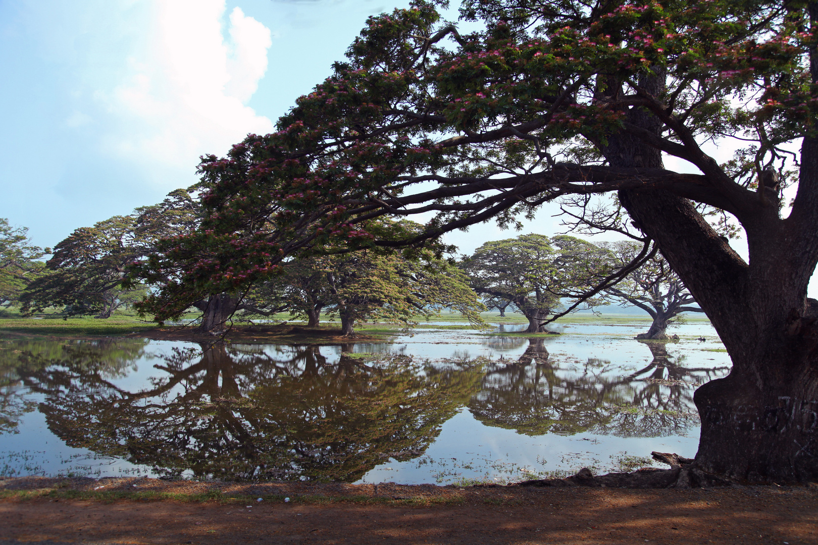
M 644 85 L 654 96 L 663 87 L 659 79 Z M 658 130 L 645 111 L 631 109 L 628 118 Z M 605 156 L 613 166 L 662 166 L 658 150 L 632 137 L 610 142 Z M 818 141 L 809 137 L 800 175 L 799 196 L 808 188 L 818 193 Z M 706 312 L 733 361 L 727 377 L 694 394 L 702 427 L 691 471 L 750 483 L 818 479 L 818 302 L 806 300 L 818 258 L 815 210 L 799 222 L 795 206 L 781 220 L 777 204 L 762 194 L 757 203 L 742 203 L 748 265 L 687 199 L 656 189 L 618 196 Z M 818 194 L 808 199 L 818 205 Z M 802 213 L 808 215 L 807 207 Z

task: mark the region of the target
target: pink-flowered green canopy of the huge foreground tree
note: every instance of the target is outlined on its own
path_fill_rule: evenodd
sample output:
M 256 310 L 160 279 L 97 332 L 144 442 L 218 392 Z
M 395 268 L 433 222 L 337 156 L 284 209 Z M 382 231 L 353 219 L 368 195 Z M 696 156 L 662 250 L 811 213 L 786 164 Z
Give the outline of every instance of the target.
M 276 132 L 203 159 L 202 229 L 160 244 L 134 270 L 164 279 L 154 310 L 178 315 L 203 293 L 241 291 L 304 248 L 416 247 L 491 218 L 515 225 L 552 199 L 587 203 L 660 181 L 585 168 L 605 166 L 612 136 L 727 176 L 747 195 L 775 167 L 783 181 L 770 189 L 780 192 L 792 178 L 782 146 L 815 131 L 806 58 L 816 38 L 802 4 L 470 0 L 461 15 L 483 29 L 469 35 L 443 23 L 437 5 L 371 17 L 348 59 Z M 660 94 L 640 87 L 660 76 Z M 667 137 L 628 124 L 631 109 L 653 112 Z M 713 170 L 696 139 L 735 135 L 754 143 Z M 417 186 L 429 181 L 438 185 Z M 725 202 L 678 191 L 717 212 Z M 402 242 L 364 226 L 416 212 L 437 216 Z

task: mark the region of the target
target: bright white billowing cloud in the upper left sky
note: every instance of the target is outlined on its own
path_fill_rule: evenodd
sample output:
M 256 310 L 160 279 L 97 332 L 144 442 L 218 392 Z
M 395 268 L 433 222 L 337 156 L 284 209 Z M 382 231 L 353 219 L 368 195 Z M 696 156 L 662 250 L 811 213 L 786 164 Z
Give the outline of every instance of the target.
M 238 7 L 225 13 L 224 0 L 155 0 L 124 78 L 97 93 L 120 122 L 107 150 L 193 172 L 200 154 L 272 131 L 246 105 L 267 70 L 270 31 Z

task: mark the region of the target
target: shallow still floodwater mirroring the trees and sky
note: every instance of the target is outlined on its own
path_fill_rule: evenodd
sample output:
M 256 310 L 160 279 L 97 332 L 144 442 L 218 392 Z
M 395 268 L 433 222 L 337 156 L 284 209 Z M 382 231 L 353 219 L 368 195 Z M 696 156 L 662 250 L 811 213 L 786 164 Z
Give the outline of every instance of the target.
M 456 483 L 692 457 L 694 389 L 730 360 L 709 324 L 668 343 L 632 338 L 645 328 L 423 329 L 333 346 L 5 341 L 0 475 Z

